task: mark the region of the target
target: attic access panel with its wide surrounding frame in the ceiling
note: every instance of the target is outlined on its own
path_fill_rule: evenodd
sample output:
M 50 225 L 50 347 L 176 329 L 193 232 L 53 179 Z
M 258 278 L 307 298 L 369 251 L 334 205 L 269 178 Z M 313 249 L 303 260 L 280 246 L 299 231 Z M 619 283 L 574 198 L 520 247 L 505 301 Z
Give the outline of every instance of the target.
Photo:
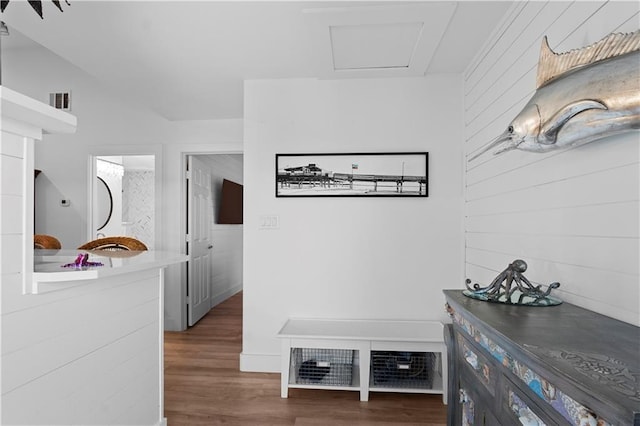
M 303 10 L 320 78 L 423 76 L 455 2 Z

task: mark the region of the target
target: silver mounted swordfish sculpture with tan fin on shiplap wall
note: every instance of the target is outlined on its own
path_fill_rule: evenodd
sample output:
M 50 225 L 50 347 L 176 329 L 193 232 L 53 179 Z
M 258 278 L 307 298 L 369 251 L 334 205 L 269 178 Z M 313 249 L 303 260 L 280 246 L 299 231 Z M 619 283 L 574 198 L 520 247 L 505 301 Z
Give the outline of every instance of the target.
M 469 161 L 496 147 L 547 152 L 640 129 L 640 30 L 560 54 L 545 36 L 536 85 L 507 130 Z

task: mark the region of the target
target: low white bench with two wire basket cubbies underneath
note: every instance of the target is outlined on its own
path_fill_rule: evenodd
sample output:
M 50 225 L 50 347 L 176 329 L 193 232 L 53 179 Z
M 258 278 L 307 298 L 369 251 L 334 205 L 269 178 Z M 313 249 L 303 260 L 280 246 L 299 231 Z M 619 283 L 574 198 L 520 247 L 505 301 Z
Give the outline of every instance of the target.
M 384 320 L 324 320 L 324 319 L 289 319 L 278 337 L 282 339 L 281 360 L 281 397 L 289 396 L 289 389 L 340 389 L 360 391 L 360 400 L 369 400 L 372 392 L 410 392 L 442 394 L 442 401 L 447 403 L 447 350 L 444 344 L 443 325 L 438 321 L 384 321 Z M 314 349 L 320 350 L 326 357 L 327 352 L 336 350 L 336 354 L 352 354 L 349 378 L 346 383 L 323 383 L 324 377 L 312 377 L 312 380 L 300 380 L 300 365 L 292 359 L 292 350 L 296 355 Z M 297 351 L 297 352 L 296 352 Z M 353 351 L 353 352 L 351 352 Z M 428 386 L 412 386 L 411 382 L 394 386 L 392 383 L 376 385 L 371 380 L 374 375 L 372 353 L 383 356 L 397 352 L 399 357 L 411 354 L 413 360 L 427 359 L 428 354 L 434 362 L 429 368 Z M 425 357 L 417 358 L 416 354 L 424 353 Z M 331 355 L 329 355 L 331 357 Z M 310 360 L 307 360 L 310 362 Z M 315 362 L 315 361 L 313 361 Z M 338 368 L 332 360 L 321 360 L 314 364 L 316 372 L 324 374 L 330 369 Z M 395 366 L 396 364 L 394 364 Z M 410 362 L 397 362 L 399 370 L 411 368 Z M 403 372 L 400 372 L 403 373 Z M 404 376 L 406 377 L 406 376 Z M 373 384 L 371 382 L 374 382 Z

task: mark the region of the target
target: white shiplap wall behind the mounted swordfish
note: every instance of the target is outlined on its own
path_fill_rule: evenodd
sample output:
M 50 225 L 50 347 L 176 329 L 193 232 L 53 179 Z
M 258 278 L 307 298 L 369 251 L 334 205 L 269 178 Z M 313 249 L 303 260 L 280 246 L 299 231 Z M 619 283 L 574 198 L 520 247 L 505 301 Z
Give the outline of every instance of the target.
M 636 31 L 639 9 L 514 4 L 465 72 L 467 156 L 502 133 L 535 92 L 543 36 L 556 52 L 580 48 Z M 639 153 L 633 131 L 564 151 L 465 161 L 466 276 L 486 285 L 521 258 L 533 283 L 561 283 L 561 299 L 640 325 Z

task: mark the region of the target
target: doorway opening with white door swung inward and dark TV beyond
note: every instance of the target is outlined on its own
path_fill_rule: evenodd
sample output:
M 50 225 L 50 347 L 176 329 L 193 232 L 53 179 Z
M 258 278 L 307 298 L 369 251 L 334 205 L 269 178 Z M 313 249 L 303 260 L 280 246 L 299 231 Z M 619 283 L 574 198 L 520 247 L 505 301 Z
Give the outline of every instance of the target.
M 185 314 L 192 326 L 242 290 L 242 220 L 224 217 L 230 207 L 224 193 L 229 182 L 242 186 L 243 155 L 184 154 L 184 165 Z

